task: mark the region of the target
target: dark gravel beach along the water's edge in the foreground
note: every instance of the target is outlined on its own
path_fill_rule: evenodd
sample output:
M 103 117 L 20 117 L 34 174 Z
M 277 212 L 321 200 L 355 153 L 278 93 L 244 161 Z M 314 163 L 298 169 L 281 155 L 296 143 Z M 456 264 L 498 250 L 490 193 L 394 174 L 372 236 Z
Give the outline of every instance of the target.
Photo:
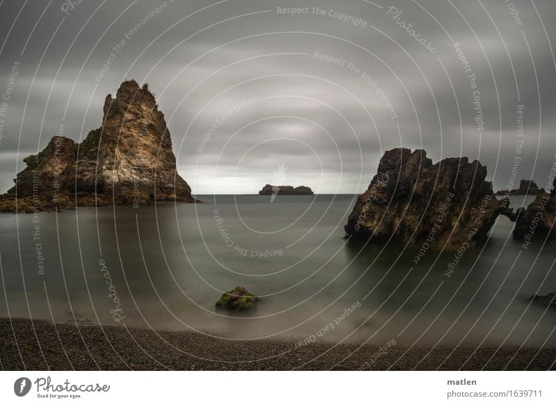
M 556 349 L 386 345 L 0 319 L 2 370 L 556 370 Z

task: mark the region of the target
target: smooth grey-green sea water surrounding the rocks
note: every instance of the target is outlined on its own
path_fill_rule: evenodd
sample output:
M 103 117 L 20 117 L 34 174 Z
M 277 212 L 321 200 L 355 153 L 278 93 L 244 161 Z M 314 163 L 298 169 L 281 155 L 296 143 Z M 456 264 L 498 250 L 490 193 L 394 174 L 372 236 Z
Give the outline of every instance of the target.
M 556 347 L 554 246 L 500 217 L 454 253 L 343 239 L 356 196 L 197 196 L 204 204 L 0 215 L 0 316 L 257 339 Z M 513 197 L 512 206 L 531 198 Z M 215 312 L 222 292 L 261 297 Z M 348 310 L 350 308 L 351 310 Z

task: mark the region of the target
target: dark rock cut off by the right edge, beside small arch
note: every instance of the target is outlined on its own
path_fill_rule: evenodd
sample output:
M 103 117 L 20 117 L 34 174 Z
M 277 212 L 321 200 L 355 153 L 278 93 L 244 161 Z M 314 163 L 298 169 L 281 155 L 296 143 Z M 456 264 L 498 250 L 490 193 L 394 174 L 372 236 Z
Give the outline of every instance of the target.
M 550 193 L 542 193 L 518 215 L 514 228 L 514 238 L 521 239 L 523 246 L 529 246 L 534 239 L 553 241 L 556 221 L 556 180 Z

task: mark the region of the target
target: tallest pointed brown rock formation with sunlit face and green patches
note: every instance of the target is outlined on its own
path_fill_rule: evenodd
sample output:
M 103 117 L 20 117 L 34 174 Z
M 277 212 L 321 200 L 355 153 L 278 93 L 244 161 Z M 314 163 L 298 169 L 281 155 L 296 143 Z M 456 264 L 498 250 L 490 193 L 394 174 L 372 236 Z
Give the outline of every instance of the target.
M 154 201 L 194 202 L 177 173 L 164 114 L 147 85 L 124 81 L 106 97 L 102 126 L 81 143 L 54 136 L 27 167 L 16 186 L 0 198 L 0 210 L 142 205 Z

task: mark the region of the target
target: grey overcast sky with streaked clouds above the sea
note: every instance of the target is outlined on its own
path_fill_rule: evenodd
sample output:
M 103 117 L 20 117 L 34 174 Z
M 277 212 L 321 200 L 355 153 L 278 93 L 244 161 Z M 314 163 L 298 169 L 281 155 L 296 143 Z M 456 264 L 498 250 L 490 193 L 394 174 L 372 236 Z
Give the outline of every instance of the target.
M 292 6 L 305 14 L 279 10 Z M 521 157 L 518 179 L 545 186 L 556 160 L 555 19 L 545 0 L 4 0 L 0 189 L 60 124 L 76 141 L 99 127 L 104 97 L 132 78 L 156 93 L 197 194 L 274 182 L 361 193 L 400 145 L 434 161 L 478 158 L 495 189 Z

